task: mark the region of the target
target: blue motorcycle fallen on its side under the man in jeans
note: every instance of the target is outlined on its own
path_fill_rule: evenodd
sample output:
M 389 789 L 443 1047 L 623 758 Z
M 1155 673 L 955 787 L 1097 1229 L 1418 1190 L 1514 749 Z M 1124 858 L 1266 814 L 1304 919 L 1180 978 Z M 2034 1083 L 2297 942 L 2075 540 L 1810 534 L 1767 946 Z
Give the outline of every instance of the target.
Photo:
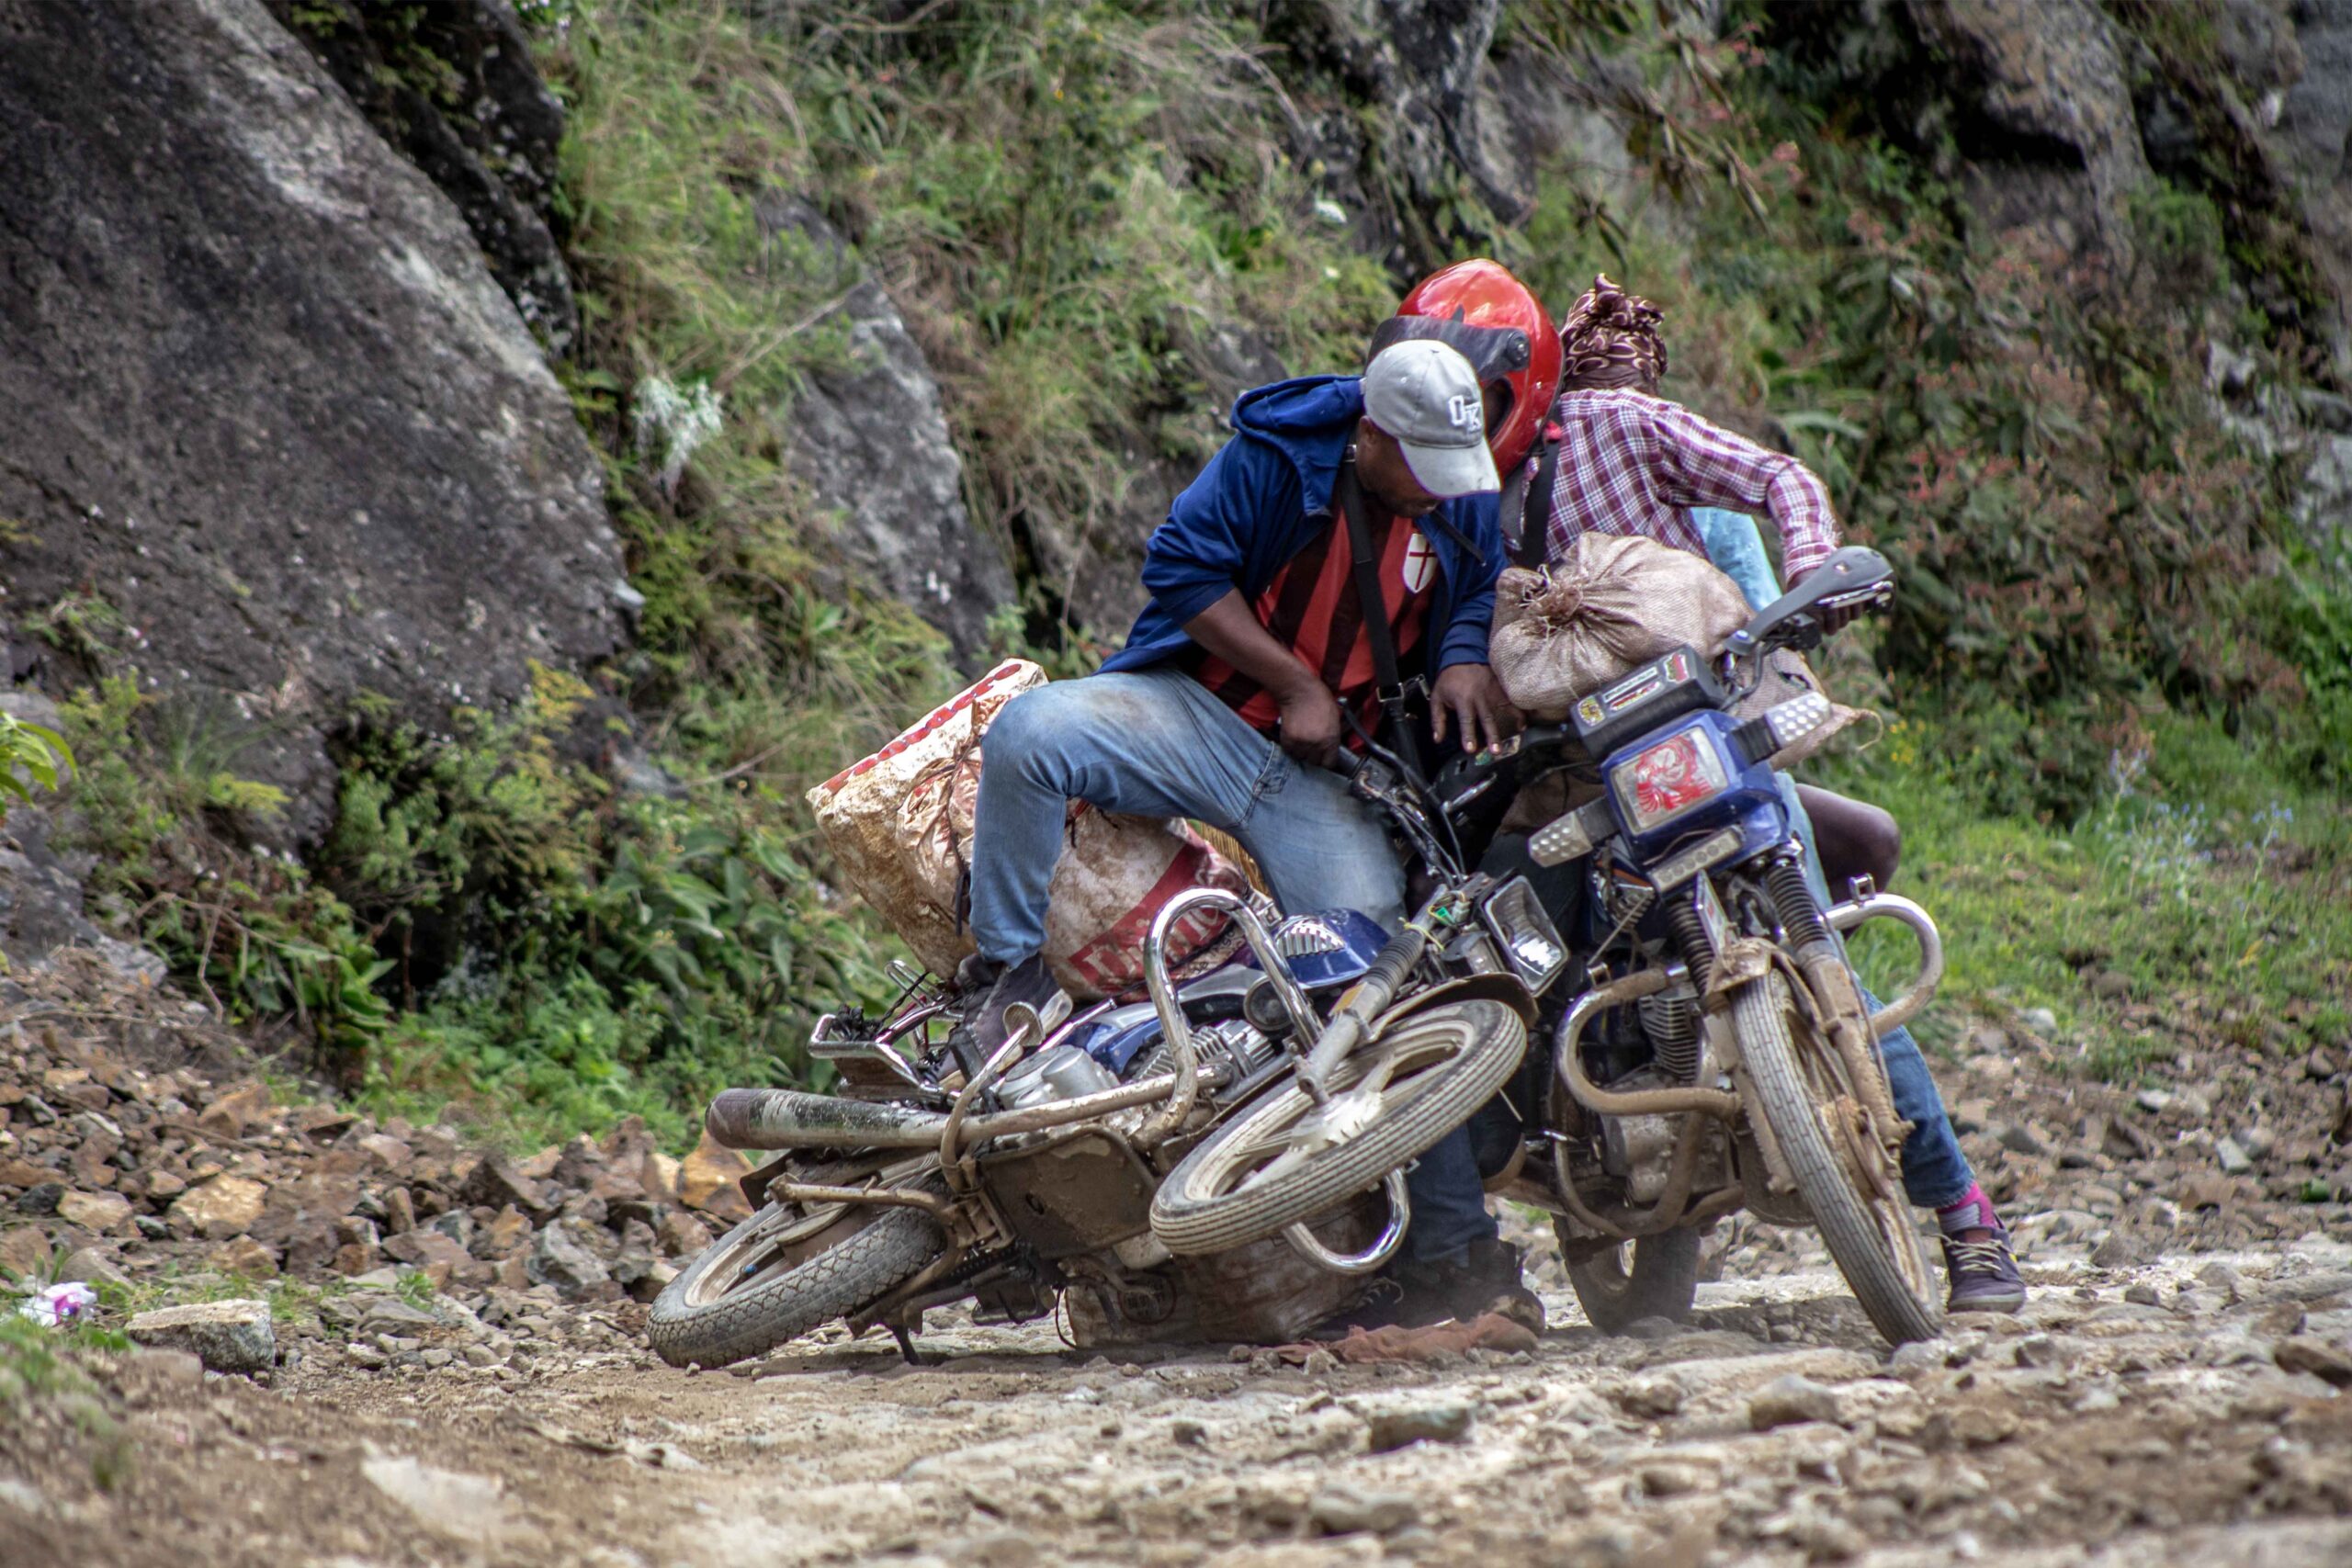
M 1178 983 L 1167 936 L 1202 907 L 1247 957 Z M 670 1281 L 647 1335 L 673 1366 L 724 1366 L 842 1319 L 913 1354 L 929 1307 L 974 1300 L 978 1321 L 1061 1307 L 1077 1342 L 1298 1338 L 1395 1253 L 1402 1166 L 1517 1070 L 1564 959 L 1524 882 L 1456 877 L 1395 940 L 1348 910 L 1270 924 L 1190 889 L 1152 922 L 1148 1001 L 1068 1016 L 1056 997 L 969 1072 L 948 1046 L 962 1001 L 906 976 L 884 1018 L 818 1023 L 835 1093 L 713 1100 L 717 1143 L 774 1159 L 743 1178 L 757 1213 Z M 1225 1126 L 1282 1128 L 1282 1168 L 1232 1204 L 1216 1164 L 1204 1201 L 1160 1204 Z

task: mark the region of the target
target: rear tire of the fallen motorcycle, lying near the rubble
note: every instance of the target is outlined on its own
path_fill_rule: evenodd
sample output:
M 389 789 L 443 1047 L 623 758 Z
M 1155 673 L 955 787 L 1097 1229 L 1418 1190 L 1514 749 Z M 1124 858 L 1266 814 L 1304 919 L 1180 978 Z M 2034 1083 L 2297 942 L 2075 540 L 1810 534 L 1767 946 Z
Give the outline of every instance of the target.
M 833 1213 L 828 1222 L 840 1222 Z M 797 1340 L 889 1295 L 938 1258 L 948 1241 L 920 1208 L 880 1208 L 861 1229 L 790 1265 L 741 1279 L 746 1260 L 774 1251 L 783 1206 L 769 1204 L 703 1248 L 654 1298 L 644 1338 L 670 1366 L 729 1366 Z M 807 1229 L 807 1227 L 800 1227 Z M 811 1232 L 818 1234 L 818 1232 Z M 729 1279 L 734 1276 L 734 1279 Z

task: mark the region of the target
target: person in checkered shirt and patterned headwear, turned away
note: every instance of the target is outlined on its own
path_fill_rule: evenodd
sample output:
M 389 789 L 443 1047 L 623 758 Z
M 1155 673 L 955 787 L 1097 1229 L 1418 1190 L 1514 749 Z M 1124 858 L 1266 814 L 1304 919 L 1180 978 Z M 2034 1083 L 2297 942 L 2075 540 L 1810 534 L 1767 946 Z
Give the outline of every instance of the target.
M 1524 458 L 1524 512 L 1510 534 L 1515 559 L 1559 559 L 1581 534 L 1639 534 L 1710 555 L 1708 529 L 1722 512 L 1764 512 L 1780 531 L 1790 583 L 1837 548 L 1837 517 L 1820 480 L 1797 458 L 1766 451 L 1682 404 L 1658 397 L 1665 376 L 1663 313 L 1595 277 L 1562 324 L 1562 390 L 1543 425 L 1543 444 Z M 1708 515 L 1708 508 L 1722 508 Z M 1750 527 L 1752 536 L 1752 527 Z M 1733 534 L 1736 538 L 1736 534 Z M 1719 555 L 1717 564 L 1726 564 Z M 1740 576 L 1740 574 L 1736 574 Z M 1750 599 L 1778 597 L 1769 574 Z M 1828 875 L 1893 875 L 1893 818 L 1828 790 L 1799 788 L 1792 816 L 1818 835 L 1809 865 Z M 1842 886 L 1842 882 L 1837 884 Z M 1816 886 L 1828 903 L 1828 886 Z M 1910 1030 L 1879 1041 L 1896 1112 L 1912 1121 L 1903 1147 L 1903 1187 L 1933 1208 L 1943 1237 L 1950 1312 L 2016 1312 L 2025 1284 L 1966 1154 L 1952 1135 L 1943 1098 Z

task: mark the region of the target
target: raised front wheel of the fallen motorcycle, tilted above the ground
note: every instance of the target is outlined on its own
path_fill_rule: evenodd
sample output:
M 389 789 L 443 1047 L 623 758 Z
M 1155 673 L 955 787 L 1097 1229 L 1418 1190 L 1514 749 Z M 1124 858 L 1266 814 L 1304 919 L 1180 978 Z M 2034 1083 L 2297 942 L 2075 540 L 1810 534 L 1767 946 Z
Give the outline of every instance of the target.
M 1334 1103 L 1392 1074 L 1362 1126 L 1298 1150 L 1301 1133 L 1312 1140 L 1315 1103 L 1296 1081 L 1268 1091 L 1169 1171 L 1152 1234 L 1178 1258 L 1223 1253 L 1329 1213 L 1468 1121 L 1524 1051 L 1526 1025 L 1501 1001 L 1411 1013 L 1334 1074 Z

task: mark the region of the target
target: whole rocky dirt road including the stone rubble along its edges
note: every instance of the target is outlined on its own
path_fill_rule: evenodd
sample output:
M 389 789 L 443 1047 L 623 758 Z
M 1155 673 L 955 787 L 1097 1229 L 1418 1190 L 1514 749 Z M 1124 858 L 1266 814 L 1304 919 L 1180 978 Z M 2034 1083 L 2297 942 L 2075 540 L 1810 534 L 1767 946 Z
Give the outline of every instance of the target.
M 1945 1084 L 2034 1298 L 1896 1356 L 1804 1234 L 1736 1220 L 1696 1321 L 1621 1340 L 1538 1255 L 1517 1356 L 1101 1356 L 931 1314 L 924 1366 L 835 1333 L 684 1375 L 640 1321 L 741 1204 L 708 1159 L 626 1124 L 503 1159 L 282 1103 L 167 994 L 16 997 L 0 1265 L 115 1274 L 115 1324 L 278 1321 L 259 1378 L 0 1356 L 0 1568 L 2352 1563 L 2340 1051 L 2119 1088 L 2030 1023 L 1971 1034 Z

